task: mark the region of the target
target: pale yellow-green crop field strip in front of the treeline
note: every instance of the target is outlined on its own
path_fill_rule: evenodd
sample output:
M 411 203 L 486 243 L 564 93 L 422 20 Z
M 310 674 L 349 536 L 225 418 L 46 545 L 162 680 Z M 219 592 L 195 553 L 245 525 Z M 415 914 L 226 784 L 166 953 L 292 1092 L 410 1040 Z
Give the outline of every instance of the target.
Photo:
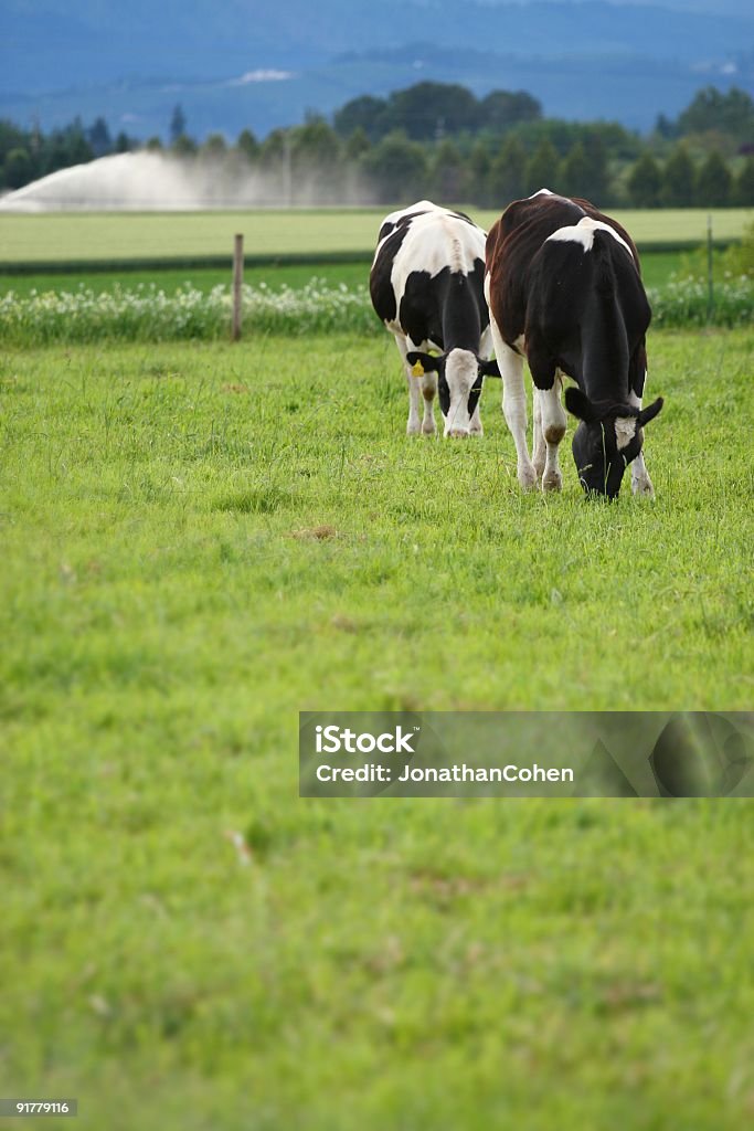
M 467 209 L 483 227 L 497 211 Z M 200 260 L 231 256 L 233 236 L 243 232 L 249 257 L 366 253 L 374 250 L 380 222 L 389 208 L 265 210 L 245 213 L 0 213 L 2 265 Z M 751 209 L 713 209 L 718 241 L 739 239 Z M 705 209 L 615 211 L 641 248 L 695 247 L 707 239 Z

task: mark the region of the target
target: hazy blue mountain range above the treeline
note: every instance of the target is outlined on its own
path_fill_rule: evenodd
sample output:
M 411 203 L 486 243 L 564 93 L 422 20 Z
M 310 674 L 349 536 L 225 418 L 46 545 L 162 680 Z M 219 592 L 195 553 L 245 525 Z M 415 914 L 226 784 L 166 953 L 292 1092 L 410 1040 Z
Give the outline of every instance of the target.
M 49 130 L 103 115 L 113 132 L 165 138 L 180 103 L 198 139 L 262 137 L 433 79 L 649 129 L 702 86 L 751 92 L 751 3 L 667 2 L 3 0 L 0 116 Z

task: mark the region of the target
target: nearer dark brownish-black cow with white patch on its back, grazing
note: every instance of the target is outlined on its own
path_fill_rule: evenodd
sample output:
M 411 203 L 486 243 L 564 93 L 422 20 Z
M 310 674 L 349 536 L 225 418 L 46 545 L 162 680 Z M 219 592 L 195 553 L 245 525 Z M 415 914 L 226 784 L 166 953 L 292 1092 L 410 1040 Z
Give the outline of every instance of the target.
M 573 458 L 588 494 L 615 499 L 631 464 L 634 494 L 653 494 L 642 428 L 662 398 L 642 408 L 644 336 L 651 310 L 629 233 L 587 200 L 543 189 L 515 200 L 487 238 L 485 295 L 503 378 L 503 413 L 522 487 L 560 490 L 565 435 L 563 374 L 578 388 L 565 406 L 580 420 Z M 534 380 L 534 463 L 526 441 L 523 359 Z

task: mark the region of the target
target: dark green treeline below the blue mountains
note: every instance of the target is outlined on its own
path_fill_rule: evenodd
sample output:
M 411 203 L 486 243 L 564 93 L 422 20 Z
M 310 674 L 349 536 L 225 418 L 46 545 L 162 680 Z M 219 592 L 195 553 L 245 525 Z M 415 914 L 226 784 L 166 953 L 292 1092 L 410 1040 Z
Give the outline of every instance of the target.
M 210 163 L 227 183 L 254 178 L 262 202 L 393 204 L 427 196 L 496 208 L 543 187 L 606 207 L 754 205 L 754 102 L 743 90 L 700 90 L 648 137 L 616 122 L 545 118 L 523 92 L 476 98 L 465 87 L 421 83 L 388 98 L 364 96 L 332 122 L 311 115 L 263 140 L 244 130 L 229 145 L 198 145 L 176 106 L 170 143 L 147 149 Z M 98 119 L 44 138 L 0 123 L 0 184 L 17 188 L 45 172 L 135 148 Z M 259 192 L 255 202 L 259 202 Z

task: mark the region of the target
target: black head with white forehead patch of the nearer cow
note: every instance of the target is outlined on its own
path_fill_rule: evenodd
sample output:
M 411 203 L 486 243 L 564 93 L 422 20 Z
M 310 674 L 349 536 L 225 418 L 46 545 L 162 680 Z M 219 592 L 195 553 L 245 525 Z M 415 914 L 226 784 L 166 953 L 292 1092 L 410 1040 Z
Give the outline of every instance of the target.
M 623 473 L 641 451 L 644 424 L 662 407 L 658 397 L 647 408 L 590 400 L 578 388 L 565 390 L 565 407 L 581 422 L 573 437 L 573 458 L 587 494 L 617 499 Z

